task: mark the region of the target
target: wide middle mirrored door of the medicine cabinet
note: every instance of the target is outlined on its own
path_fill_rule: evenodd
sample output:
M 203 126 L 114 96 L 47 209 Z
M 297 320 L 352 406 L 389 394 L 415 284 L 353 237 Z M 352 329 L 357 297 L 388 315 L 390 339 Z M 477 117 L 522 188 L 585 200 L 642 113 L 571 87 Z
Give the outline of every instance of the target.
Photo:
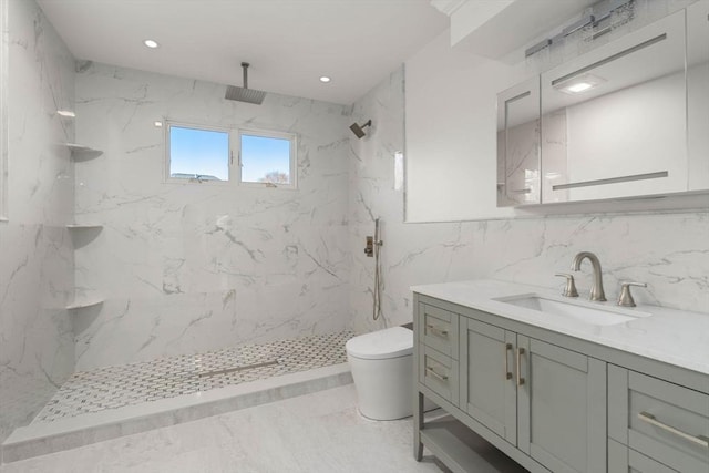
M 542 74 L 542 202 L 687 191 L 686 89 L 684 10 Z

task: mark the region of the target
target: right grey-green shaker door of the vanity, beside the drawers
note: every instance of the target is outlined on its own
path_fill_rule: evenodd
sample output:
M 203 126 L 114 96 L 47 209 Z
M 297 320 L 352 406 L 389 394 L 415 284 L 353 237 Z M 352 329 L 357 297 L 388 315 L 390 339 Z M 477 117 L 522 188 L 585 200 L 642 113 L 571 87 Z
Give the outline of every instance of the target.
M 520 450 L 556 473 L 606 471 L 606 363 L 517 336 Z

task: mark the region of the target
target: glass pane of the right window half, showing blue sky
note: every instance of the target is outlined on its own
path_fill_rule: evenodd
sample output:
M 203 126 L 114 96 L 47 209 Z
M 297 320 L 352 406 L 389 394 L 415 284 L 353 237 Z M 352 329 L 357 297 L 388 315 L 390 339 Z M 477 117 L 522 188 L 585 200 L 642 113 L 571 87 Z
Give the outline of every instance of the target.
M 291 184 L 290 140 L 242 135 L 242 181 Z

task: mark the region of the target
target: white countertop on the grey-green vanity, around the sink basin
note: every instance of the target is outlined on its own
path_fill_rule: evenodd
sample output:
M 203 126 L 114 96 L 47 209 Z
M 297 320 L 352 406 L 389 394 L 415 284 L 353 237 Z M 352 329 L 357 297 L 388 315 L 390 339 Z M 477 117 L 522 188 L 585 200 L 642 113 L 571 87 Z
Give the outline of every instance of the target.
M 634 308 L 623 308 L 623 310 L 626 313 L 635 311 L 638 316 L 647 313 L 650 316 L 616 325 L 596 326 L 565 319 L 562 316 L 547 316 L 536 310 L 494 300 L 525 294 L 558 298 L 559 294 L 556 289 L 481 279 L 413 286 L 411 290 L 709 374 L 709 313 L 638 305 Z M 590 302 L 584 296 L 574 298 L 573 302 L 587 305 L 587 307 L 617 309 L 615 301 Z

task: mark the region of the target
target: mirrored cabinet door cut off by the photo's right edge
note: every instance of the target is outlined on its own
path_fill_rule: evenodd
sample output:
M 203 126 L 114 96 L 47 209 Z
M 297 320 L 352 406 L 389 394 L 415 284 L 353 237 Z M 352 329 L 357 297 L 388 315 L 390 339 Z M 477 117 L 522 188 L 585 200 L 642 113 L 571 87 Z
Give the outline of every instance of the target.
M 689 191 L 709 189 L 709 0 L 687 8 Z

